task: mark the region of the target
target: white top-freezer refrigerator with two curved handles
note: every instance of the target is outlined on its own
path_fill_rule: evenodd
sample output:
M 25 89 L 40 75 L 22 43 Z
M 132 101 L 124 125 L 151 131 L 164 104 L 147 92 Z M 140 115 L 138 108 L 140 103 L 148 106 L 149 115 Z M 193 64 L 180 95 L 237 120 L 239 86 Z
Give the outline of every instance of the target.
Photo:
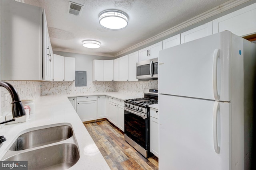
M 159 169 L 251 168 L 256 45 L 223 31 L 159 52 Z

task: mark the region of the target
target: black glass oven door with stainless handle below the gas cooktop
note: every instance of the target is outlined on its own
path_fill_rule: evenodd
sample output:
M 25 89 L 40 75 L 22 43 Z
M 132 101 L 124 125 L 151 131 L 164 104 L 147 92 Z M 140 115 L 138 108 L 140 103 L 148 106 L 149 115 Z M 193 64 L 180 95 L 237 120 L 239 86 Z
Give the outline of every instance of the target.
M 139 113 L 124 107 L 124 133 L 145 150 L 149 149 L 149 119 L 147 113 Z

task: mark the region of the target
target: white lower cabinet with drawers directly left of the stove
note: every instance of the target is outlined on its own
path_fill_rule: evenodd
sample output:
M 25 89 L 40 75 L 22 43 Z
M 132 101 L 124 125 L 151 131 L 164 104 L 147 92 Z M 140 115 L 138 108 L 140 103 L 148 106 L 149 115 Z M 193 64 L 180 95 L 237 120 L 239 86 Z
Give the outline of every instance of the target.
M 108 120 L 124 131 L 124 100 L 108 97 Z

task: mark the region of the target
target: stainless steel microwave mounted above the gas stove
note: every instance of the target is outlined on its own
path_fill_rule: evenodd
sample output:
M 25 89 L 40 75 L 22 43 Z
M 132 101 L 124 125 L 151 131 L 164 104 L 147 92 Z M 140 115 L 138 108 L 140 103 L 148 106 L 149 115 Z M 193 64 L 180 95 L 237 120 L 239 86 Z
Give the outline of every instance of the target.
M 158 79 L 158 58 L 138 62 L 137 76 L 139 80 L 157 80 Z

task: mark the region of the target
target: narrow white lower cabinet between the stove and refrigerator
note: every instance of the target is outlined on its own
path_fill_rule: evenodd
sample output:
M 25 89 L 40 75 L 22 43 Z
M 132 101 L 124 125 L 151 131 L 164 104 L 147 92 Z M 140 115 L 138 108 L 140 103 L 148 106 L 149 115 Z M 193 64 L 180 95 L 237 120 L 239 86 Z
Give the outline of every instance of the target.
M 159 125 L 158 125 L 158 109 L 150 108 L 149 111 L 149 127 L 150 127 L 150 152 L 156 157 L 159 156 Z

